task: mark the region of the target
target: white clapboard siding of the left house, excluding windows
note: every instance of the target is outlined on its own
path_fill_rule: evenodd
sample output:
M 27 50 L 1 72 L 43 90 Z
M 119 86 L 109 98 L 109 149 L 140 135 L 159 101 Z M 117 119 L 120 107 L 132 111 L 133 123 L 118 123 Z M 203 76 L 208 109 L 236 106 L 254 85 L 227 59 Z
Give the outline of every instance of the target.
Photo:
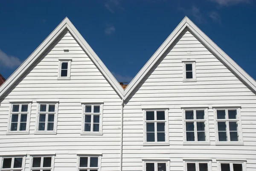
M 64 52 L 69 49 L 69 52 Z M 57 80 L 58 58 L 72 58 L 71 80 Z M 6 135 L 9 100 L 59 99 L 56 135 L 34 134 L 32 103 L 27 135 Z M 81 101 L 104 102 L 103 135 L 81 135 Z M 119 171 L 121 99 L 73 36 L 65 31 L 5 94 L 0 105 L 0 152 L 55 151 L 55 171 L 76 171 L 77 153 L 102 152 L 102 171 Z M 29 157 L 25 170 L 29 171 Z

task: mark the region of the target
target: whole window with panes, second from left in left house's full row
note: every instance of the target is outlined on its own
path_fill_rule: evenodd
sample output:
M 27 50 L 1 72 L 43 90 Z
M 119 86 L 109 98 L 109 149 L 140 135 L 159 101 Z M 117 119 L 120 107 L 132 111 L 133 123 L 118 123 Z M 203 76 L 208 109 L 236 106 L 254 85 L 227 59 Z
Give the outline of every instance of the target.
M 56 132 L 58 103 L 38 104 L 37 132 Z

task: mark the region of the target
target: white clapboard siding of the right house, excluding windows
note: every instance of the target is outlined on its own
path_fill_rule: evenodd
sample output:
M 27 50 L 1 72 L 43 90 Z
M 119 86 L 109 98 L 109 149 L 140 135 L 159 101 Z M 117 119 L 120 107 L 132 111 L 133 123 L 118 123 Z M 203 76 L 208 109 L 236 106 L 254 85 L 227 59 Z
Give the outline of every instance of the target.
M 197 82 L 183 82 L 182 60 L 196 61 Z M 210 145 L 183 145 L 181 105 L 209 106 Z M 212 105 L 241 105 L 244 145 L 215 145 Z M 123 170 L 142 170 L 142 158 L 170 158 L 171 171 L 183 171 L 183 158 L 246 159 L 256 169 L 256 96 L 190 32 L 155 64 L 124 107 Z M 170 146 L 143 146 L 143 107 L 169 107 Z M 212 171 L 217 171 L 216 160 Z

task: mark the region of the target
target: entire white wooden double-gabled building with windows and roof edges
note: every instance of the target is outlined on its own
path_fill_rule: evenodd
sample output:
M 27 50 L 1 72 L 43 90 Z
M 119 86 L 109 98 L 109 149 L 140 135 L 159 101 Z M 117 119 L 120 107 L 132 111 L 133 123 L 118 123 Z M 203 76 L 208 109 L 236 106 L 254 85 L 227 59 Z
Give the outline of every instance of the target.
M 0 87 L 0 171 L 255 171 L 255 93 L 187 17 L 125 90 L 65 18 Z

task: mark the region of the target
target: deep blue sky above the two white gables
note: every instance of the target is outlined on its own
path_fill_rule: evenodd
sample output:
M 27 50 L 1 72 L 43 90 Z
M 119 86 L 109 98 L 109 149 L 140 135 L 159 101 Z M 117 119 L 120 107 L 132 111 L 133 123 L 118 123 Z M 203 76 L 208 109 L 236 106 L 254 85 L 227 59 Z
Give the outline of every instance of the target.
M 187 15 L 256 79 L 254 0 L 0 1 L 0 73 L 8 78 L 68 17 L 118 81 L 131 81 Z

